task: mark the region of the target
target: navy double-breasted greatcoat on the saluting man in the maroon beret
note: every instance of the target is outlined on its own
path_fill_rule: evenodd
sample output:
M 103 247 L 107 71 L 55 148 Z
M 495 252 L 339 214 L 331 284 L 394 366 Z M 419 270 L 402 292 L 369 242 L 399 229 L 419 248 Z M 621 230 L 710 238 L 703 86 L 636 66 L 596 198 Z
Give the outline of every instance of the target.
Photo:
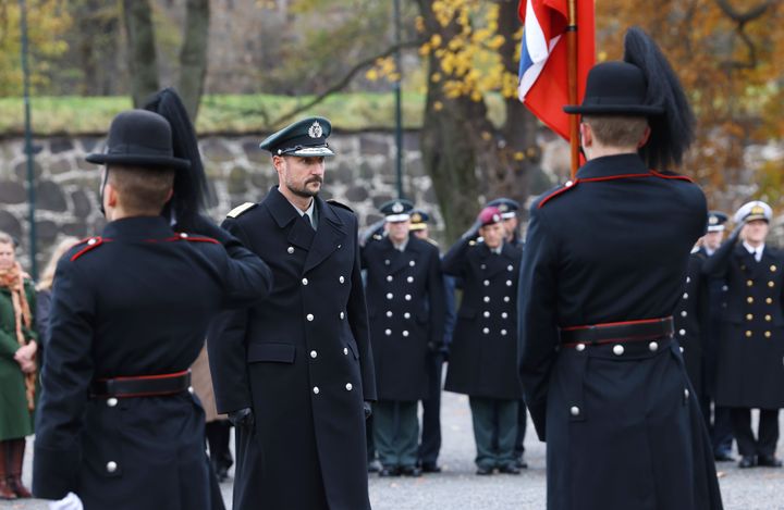
M 441 261 L 463 282 L 444 389 L 471 397 L 516 400 L 517 278 L 523 252 L 507 242 L 497 254 L 462 239 Z

